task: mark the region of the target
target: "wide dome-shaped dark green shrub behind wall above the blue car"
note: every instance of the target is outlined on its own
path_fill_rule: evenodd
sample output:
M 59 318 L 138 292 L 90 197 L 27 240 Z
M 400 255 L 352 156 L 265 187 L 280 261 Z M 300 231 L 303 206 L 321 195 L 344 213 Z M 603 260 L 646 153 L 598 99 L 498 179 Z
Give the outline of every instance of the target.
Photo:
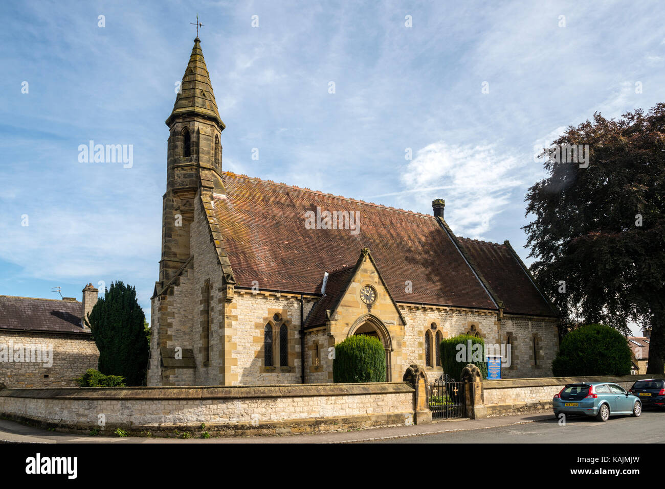
M 588 324 L 563 337 L 552 373 L 555 377 L 630 375 L 630 347 L 614 328 Z

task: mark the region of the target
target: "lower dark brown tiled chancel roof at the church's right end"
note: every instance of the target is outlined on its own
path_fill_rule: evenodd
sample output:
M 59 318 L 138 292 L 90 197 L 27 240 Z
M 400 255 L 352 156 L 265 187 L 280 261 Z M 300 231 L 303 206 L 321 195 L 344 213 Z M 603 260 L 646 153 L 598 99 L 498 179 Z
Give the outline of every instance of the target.
M 495 296 L 509 314 L 557 316 L 527 274 L 526 267 L 509 243 L 503 245 L 458 238 L 471 265 L 487 280 Z

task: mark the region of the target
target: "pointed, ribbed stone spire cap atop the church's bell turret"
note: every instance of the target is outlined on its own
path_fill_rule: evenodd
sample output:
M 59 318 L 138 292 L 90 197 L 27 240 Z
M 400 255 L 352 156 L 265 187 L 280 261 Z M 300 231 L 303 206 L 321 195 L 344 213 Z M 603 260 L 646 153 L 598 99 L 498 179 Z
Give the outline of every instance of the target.
M 176 96 L 171 115 L 166 120 L 166 125 L 171 126 L 179 116 L 197 115 L 211 120 L 219 126 L 219 130 L 226 128 L 217 112 L 217 102 L 210 83 L 210 74 L 205 66 L 201 40 L 194 39 L 194 48 L 187 64 L 185 76 L 182 77 L 180 93 Z

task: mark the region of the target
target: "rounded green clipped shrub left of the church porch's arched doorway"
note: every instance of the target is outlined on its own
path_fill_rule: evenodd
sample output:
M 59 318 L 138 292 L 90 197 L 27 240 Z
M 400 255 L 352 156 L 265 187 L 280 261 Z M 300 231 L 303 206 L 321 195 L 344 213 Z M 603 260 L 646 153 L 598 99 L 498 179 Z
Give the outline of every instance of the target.
M 334 347 L 332 381 L 385 382 L 386 350 L 378 338 L 349 336 Z

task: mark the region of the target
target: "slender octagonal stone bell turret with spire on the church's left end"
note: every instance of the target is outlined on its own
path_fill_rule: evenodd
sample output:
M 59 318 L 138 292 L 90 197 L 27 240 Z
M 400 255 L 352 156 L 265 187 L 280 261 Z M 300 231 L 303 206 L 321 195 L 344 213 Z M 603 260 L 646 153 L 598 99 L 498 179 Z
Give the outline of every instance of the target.
M 162 286 L 190 258 L 190 225 L 198 192 L 225 193 L 220 173 L 221 132 L 226 126 L 217 112 L 198 37 L 166 125 L 169 137 L 162 205 Z

